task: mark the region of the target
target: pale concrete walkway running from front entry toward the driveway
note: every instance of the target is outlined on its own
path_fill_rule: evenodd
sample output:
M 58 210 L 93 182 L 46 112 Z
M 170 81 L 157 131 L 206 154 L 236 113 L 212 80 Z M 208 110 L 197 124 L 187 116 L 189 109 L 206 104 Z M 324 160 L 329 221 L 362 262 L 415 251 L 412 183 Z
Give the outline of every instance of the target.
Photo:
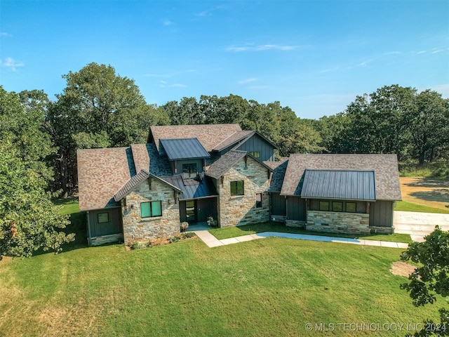
M 387 242 L 387 241 L 375 241 L 365 239 L 349 239 L 346 237 L 322 237 L 320 235 L 308 235 L 308 234 L 293 234 L 293 233 L 281 233 L 281 232 L 262 232 L 257 234 L 242 235 L 241 237 L 231 237 L 229 239 L 219 240 L 214 237 L 207 230 L 194 230 L 196 236 L 198 236 L 205 244 L 210 248 L 217 246 L 225 246 L 227 244 L 238 244 L 239 242 L 246 242 L 255 239 L 264 239 L 265 237 L 285 237 L 287 239 L 300 239 L 311 240 L 321 242 L 338 242 L 340 244 L 361 244 L 364 246 L 380 246 L 391 248 L 407 249 L 408 244 L 402 242 Z

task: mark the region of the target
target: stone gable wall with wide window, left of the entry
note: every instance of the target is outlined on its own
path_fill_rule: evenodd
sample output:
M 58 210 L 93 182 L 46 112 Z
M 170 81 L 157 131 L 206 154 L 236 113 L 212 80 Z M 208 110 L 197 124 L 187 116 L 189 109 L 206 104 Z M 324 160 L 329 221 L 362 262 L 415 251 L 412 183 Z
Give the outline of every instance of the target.
M 126 244 L 180 234 L 179 201 L 175 202 L 175 191 L 160 180 L 149 179 L 140 183 L 121 201 Z M 162 216 L 142 218 L 140 203 L 146 201 L 162 201 Z

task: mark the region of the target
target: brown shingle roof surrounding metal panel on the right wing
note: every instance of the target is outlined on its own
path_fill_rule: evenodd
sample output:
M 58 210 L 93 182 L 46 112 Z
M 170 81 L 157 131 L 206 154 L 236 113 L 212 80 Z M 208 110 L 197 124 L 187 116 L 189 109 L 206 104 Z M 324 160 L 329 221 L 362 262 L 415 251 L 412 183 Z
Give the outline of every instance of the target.
M 374 170 L 377 200 L 401 200 L 396 154 L 291 154 L 281 195 L 300 195 L 305 169 Z

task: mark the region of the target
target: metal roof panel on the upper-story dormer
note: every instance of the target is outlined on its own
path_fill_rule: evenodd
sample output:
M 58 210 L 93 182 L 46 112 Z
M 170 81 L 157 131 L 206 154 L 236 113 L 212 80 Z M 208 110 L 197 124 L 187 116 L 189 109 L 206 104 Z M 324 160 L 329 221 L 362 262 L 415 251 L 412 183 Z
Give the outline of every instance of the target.
M 198 138 L 161 139 L 159 142 L 170 160 L 210 157 Z

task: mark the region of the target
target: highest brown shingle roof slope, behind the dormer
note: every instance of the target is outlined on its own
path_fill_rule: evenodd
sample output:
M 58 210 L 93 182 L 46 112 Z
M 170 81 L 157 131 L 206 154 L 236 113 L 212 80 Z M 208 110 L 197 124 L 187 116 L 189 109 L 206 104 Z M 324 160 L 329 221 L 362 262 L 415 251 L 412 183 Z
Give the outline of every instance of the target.
M 238 131 L 241 131 L 239 124 L 169 125 L 150 128 L 158 150 L 159 139 L 198 138 L 208 152 Z

